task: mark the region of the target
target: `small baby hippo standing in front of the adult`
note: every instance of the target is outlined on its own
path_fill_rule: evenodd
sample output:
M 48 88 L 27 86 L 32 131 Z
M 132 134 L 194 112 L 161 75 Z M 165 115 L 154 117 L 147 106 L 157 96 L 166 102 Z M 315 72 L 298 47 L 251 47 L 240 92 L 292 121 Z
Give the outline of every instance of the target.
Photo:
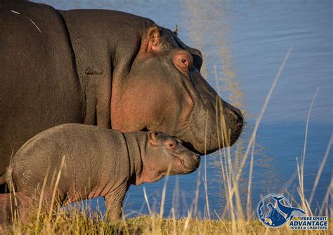
M 26 142 L 13 156 L 6 176 L 21 201 L 39 201 L 45 180 L 48 203 L 55 185 L 61 205 L 103 196 L 109 218 L 117 220 L 130 184 L 155 182 L 166 174 L 192 173 L 199 164 L 198 154 L 162 132 L 120 133 L 64 124 Z

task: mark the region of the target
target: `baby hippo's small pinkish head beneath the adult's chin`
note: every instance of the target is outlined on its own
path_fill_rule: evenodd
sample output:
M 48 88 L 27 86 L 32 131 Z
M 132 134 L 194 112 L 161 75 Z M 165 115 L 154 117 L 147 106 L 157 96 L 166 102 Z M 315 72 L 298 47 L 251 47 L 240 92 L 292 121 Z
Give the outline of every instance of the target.
M 148 133 L 140 182 L 155 182 L 164 175 L 189 174 L 200 165 L 200 156 L 183 147 L 181 140 L 158 131 Z M 168 171 L 169 170 L 169 171 Z

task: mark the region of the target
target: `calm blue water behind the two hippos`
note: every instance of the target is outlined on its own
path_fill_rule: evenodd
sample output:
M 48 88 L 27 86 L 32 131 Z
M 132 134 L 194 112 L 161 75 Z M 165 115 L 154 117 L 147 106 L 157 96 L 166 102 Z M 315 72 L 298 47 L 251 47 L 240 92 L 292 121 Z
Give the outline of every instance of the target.
M 285 53 L 292 47 L 285 69 L 270 99 L 259 126 L 254 156 L 252 203 L 261 196 L 290 192 L 297 201 L 296 158 L 301 159 L 306 117 L 315 94 L 308 128 L 304 189 L 308 197 L 315 175 L 332 135 L 332 1 L 59 1 L 40 0 L 60 9 L 105 8 L 126 11 L 151 18 L 158 25 L 174 29 L 189 46 L 204 55 L 203 74 L 228 102 L 240 102 L 247 126 L 240 142 L 247 144 L 275 74 Z M 214 67 L 215 72 L 214 72 Z M 233 86 L 236 84 L 237 86 Z M 232 151 L 235 147 L 232 147 Z M 209 209 L 223 212 L 223 184 L 216 158 L 207 156 Z M 204 159 L 202 159 L 202 163 Z M 199 171 L 203 170 L 202 164 Z M 247 163 L 243 187 L 247 187 Z M 322 171 L 313 199 L 313 208 L 321 206 L 332 180 L 332 150 Z M 202 171 L 203 173 L 203 171 Z M 202 174 L 198 216 L 207 207 Z M 169 177 L 165 213 L 174 206 L 176 215 L 187 215 L 193 208 L 197 187 L 196 173 Z M 126 216 L 148 213 L 143 196 L 145 187 L 150 207 L 159 212 L 164 180 L 131 187 L 126 194 Z M 178 186 L 177 186 L 178 185 Z M 246 197 L 245 197 L 246 198 Z M 298 201 L 299 202 L 299 201 Z M 96 201 L 93 201 L 93 206 Z M 103 208 L 103 200 L 99 205 Z

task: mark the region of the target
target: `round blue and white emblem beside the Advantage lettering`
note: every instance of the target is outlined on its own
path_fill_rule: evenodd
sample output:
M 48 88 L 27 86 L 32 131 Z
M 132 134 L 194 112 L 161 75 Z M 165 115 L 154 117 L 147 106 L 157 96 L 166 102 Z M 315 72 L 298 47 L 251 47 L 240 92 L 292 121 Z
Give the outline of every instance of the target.
M 268 194 L 259 201 L 256 214 L 266 227 L 278 228 L 292 219 L 290 208 L 292 207 L 285 196 Z

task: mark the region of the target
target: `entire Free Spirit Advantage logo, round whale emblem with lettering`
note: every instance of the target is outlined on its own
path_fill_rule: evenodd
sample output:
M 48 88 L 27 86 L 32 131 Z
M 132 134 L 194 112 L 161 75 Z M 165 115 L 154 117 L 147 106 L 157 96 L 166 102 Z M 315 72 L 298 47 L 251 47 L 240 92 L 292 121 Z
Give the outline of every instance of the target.
M 282 227 L 289 221 L 293 230 L 325 230 L 328 220 L 325 216 L 305 216 L 301 208 L 292 207 L 288 199 L 280 194 L 268 194 L 259 201 L 256 211 L 259 220 L 266 227 Z M 294 217 L 299 219 L 293 220 Z

